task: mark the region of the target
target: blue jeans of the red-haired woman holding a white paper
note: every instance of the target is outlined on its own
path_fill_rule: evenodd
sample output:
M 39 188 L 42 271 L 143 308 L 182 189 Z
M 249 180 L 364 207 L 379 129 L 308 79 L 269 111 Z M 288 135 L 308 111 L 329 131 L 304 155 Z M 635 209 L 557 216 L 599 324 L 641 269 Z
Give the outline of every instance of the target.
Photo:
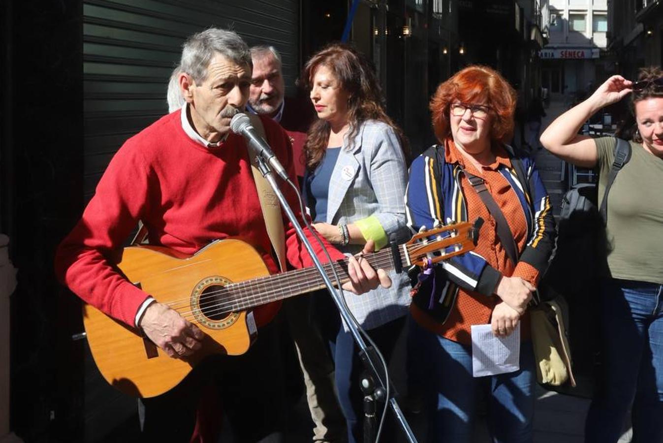
M 410 377 L 422 381 L 430 442 L 470 442 L 477 396 L 488 399 L 493 442 L 532 442 L 534 354 L 520 344 L 520 369 L 490 377 L 472 377 L 472 349 L 410 322 Z

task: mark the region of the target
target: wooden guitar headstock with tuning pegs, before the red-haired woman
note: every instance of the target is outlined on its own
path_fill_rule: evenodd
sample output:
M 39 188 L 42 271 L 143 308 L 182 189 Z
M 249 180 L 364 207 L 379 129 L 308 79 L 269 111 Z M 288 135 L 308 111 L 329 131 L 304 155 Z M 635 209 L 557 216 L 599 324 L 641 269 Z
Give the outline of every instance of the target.
M 481 225 L 483 225 L 483 219 L 477 218 L 474 222 L 452 223 L 422 231 L 405 243 L 404 249 L 412 265 L 425 269 L 433 263 L 474 249 Z M 449 234 L 445 236 L 443 233 Z M 453 250 L 447 251 L 451 247 Z M 432 253 L 439 253 L 439 255 L 432 255 Z M 429 254 L 431 254 L 430 257 Z

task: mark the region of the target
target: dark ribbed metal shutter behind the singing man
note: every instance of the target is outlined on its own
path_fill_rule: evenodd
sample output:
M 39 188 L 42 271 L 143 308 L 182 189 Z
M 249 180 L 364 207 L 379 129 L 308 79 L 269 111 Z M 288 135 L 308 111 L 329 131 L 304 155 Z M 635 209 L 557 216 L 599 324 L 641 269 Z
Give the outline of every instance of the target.
M 85 0 L 86 201 L 122 143 L 168 111 L 166 88 L 185 38 L 234 29 L 280 52 L 288 93 L 299 66 L 298 0 Z

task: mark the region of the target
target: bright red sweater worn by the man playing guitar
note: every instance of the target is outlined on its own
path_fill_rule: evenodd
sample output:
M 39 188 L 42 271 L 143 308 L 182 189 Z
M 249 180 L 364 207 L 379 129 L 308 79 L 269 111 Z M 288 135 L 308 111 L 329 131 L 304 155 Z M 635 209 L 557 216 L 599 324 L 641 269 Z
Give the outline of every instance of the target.
M 288 136 L 269 118 L 261 117 L 267 139 L 293 182 L 296 182 Z M 281 186 L 292 210 L 299 204 L 290 186 Z M 194 253 L 210 241 L 241 237 L 259 251 L 271 251 L 244 139 L 230 134 L 217 148 L 206 148 L 182 129 L 180 111 L 147 127 L 117 151 L 104 172 L 82 219 L 56 253 L 56 274 L 80 298 L 134 326 L 148 294 L 109 265 L 139 220 L 149 229 L 153 245 Z M 312 261 L 294 228 L 284 217 L 286 255 L 295 268 Z M 305 229 L 308 233 L 308 229 Z M 316 241 L 316 255 L 324 255 Z M 333 260 L 343 255 L 328 245 Z M 278 267 L 263 255 L 271 273 Z M 278 302 L 254 310 L 257 324 L 276 314 Z

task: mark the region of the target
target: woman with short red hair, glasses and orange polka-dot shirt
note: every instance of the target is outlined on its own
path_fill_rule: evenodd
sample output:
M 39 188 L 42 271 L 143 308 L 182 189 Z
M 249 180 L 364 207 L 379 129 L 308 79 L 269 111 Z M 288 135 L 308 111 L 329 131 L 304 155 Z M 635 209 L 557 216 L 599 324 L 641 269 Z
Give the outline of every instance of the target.
M 410 167 L 406 216 L 413 231 L 485 221 L 475 250 L 422 275 L 410 306 L 410 376 L 426 387 L 432 441 L 471 441 L 477 391 L 489 399 L 493 441 L 532 441 L 535 369 L 526 308 L 555 226 L 534 163 L 506 144 L 515 104 L 516 93 L 495 70 L 461 70 L 430 102 L 440 144 Z M 471 326 L 479 324 L 491 324 L 498 337 L 520 328 L 519 369 L 473 377 Z

